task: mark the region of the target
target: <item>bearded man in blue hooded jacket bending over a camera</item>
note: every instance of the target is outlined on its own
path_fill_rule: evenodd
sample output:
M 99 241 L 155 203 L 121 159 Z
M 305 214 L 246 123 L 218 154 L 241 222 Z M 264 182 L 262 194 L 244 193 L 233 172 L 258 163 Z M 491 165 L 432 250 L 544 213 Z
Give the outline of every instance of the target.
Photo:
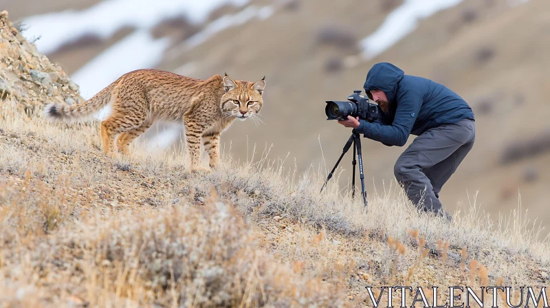
M 451 220 L 439 192 L 474 146 L 470 106 L 447 87 L 405 75 L 391 63 L 375 64 L 363 88 L 377 102 L 382 117 L 368 122 L 348 116 L 338 123 L 386 146 L 404 146 L 410 134 L 417 135 L 395 162 L 395 177 L 418 208 Z

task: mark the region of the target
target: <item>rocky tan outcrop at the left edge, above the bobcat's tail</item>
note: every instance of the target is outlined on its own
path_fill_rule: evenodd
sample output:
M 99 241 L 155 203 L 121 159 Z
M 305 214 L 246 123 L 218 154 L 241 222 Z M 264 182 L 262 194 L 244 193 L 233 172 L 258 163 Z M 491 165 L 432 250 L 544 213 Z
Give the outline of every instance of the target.
M 48 102 L 74 104 L 84 99 L 67 73 L 25 39 L 0 13 L 0 97 L 17 102 L 25 112 L 36 113 L 36 107 Z

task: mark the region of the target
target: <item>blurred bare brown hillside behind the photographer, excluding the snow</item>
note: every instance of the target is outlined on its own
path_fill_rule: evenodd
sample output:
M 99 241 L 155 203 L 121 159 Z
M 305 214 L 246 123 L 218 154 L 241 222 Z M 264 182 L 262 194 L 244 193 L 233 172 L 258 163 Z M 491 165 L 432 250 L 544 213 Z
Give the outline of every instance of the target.
M 275 157 L 296 157 L 299 170 L 320 166 L 326 174 L 350 132 L 326 120 L 325 100 L 345 100 L 362 89 L 374 63 L 389 61 L 406 74 L 447 85 L 476 114 L 476 144 L 443 187 L 443 206 L 460 210 L 476 197 L 497 219 L 521 203 L 531 222 L 550 226 L 549 1 L 461 1 L 421 19 L 414 32 L 370 60 L 360 57 L 362 39 L 401 1 L 389 8 L 383 1 L 299 2 L 294 10 L 281 8 L 264 21 L 225 30 L 159 65 L 184 67 L 181 74 L 197 78 L 222 68 L 239 78 L 267 75 L 265 125 L 235 125 L 225 136 L 236 157 L 247 155 L 247 144 L 272 144 Z M 373 191 L 393 180 L 404 148 L 369 140 L 363 147 L 367 189 Z M 351 154 L 342 162 L 342 185 L 351 181 L 349 162 Z

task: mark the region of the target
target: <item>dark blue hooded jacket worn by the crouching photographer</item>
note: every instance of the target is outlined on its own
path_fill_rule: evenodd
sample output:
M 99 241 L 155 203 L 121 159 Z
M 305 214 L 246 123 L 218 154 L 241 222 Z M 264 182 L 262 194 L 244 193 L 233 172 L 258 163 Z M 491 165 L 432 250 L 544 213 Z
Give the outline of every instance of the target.
M 440 124 L 452 124 L 462 119 L 474 120 L 474 112 L 458 94 L 432 80 L 405 75 L 391 63 L 377 63 L 363 86 L 372 100 L 373 89 L 384 91 L 389 111 L 380 120 L 360 120 L 356 131 L 386 146 L 404 146 L 408 136 L 420 135 Z

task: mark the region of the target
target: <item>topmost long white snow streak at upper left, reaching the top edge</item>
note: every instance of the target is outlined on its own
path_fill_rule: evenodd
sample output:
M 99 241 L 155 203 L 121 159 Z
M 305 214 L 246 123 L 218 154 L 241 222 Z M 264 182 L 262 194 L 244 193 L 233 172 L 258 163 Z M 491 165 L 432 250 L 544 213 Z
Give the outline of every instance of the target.
M 250 0 L 106 0 L 87 10 L 65 10 L 28 17 L 23 23 L 30 28 L 25 36 L 41 36 L 36 41 L 43 54 L 54 52 L 65 43 L 85 34 L 107 39 L 124 26 L 151 30 L 164 19 L 184 15 L 190 22 L 205 21 L 208 14 L 224 4 L 243 6 Z

